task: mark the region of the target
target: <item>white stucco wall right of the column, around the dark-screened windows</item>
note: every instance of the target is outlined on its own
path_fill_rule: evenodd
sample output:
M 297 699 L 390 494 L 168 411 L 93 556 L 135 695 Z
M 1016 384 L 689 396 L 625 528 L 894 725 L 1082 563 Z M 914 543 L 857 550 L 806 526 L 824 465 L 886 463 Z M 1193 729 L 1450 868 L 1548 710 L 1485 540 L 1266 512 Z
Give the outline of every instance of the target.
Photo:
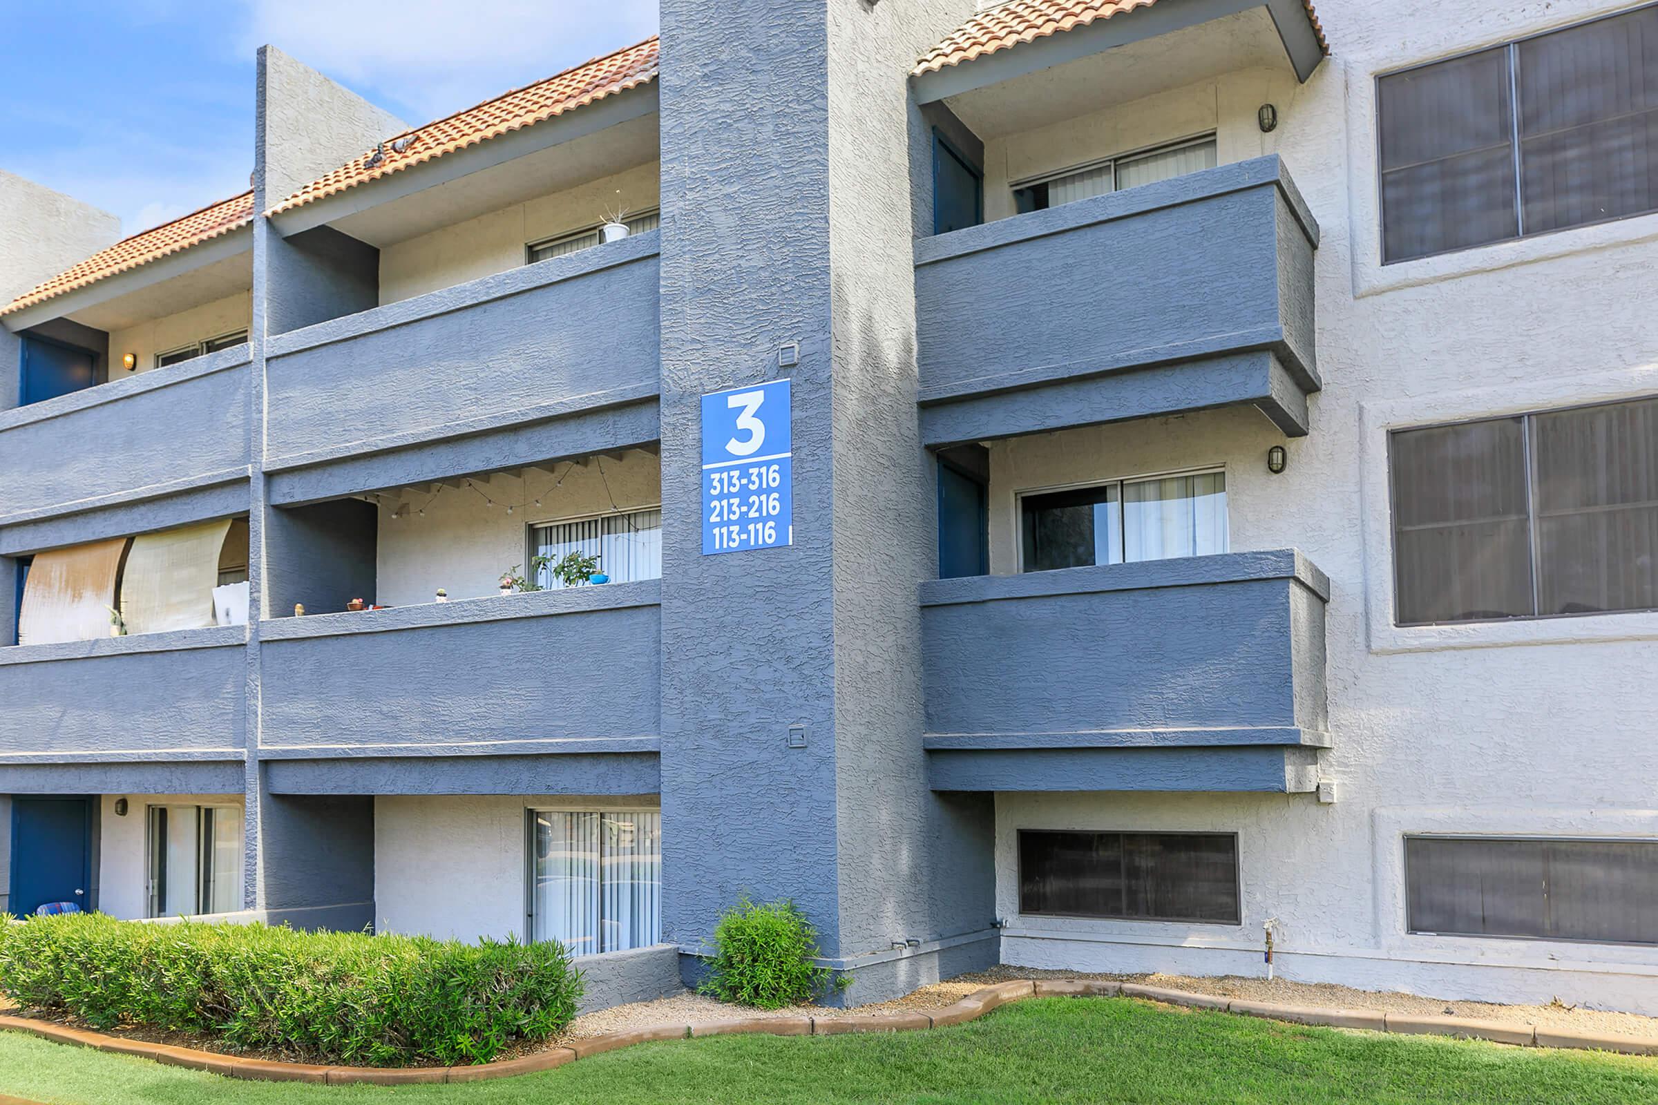
M 1396 628 L 1388 524 L 1391 427 L 1658 393 L 1658 215 L 1383 268 L 1378 258 L 1376 73 L 1628 5 L 1330 0 L 1335 53 L 1262 136 L 1262 93 L 1215 93 L 1220 159 L 1278 151 L 1323 232 L 1311 436 L 1277 436 L 1250 411 L 1202 413 L 996 444 L 991 562 L 1011 570 L 1020 487 L 1224 462 L 1234 548 L 1297 545 L 1331 577 L 1330 729 L 1313 795 L 1001 795 L 998 910 L 1008 963 L 1262 972 L 1278 918 L 1278 971 L 1441 997 L 1497 997 L 1658 1012 L 1658 949 L 1431 938 L 1404 931 L 1403 835 L 1466 832 L 1658 838 L 1658 616 Z M 1244 78 L 1240 78 L 1244 80 Z M 1248 76 L 1248 81 L 1253 81 Z M 1247 81 L 1245 81 L 1247 83 Z M 1179 138 L 1202 123 L 1197 89 L 1048 128 L 987 149 L 987 210 L 1010 176 Z M 1111 116 L 1121 116 L 1113 129 Z M 1131 116 L 1141 116 L 1131 119 Z M 1229 138 L 1234 119 L 1242 131 Z M 1161 131 L 1161 133 L 1159 133 Z M 1255 131 L 1253 139 L 1245 134 Z M 1046 164 L 1043 164 L 1046 159 Z M 1001 181 L 993 187 L 991 181 Z M 1008 200 L 1010 202 L 1010 200 Z M 1010 207 L 1001 209 L 1010 210 Z M 1132 290 L 1127 290 L 1132 293 Z M 1109 305 L 1103 305 L 1103 310 Z M 1020 827 L 1240 833 L 1244 924 L 1171 926 L 1018 916 Z

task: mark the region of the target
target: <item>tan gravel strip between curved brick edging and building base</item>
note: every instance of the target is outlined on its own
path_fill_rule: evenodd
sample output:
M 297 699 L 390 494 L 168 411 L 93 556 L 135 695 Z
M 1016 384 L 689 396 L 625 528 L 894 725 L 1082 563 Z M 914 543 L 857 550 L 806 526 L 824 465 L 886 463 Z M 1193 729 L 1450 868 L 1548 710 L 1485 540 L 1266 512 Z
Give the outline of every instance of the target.
M 973 991 L 991 982 L 1010 979 L 1117 979 L 1121 982 L 1142 982 L 1164 989 L 1190 991 L 1195 994 L 1215 994 L 1220 997 L 1242 997 L 1247 1001 L 1278 1002 L 1282 1006 L 1323 1006 L 1330 1009 L 1376 1009 L 1381 1012 L 1429 1014 L 1447 1017 L 1477 1017 L 1481 1021 L 1517 1021 L 1524 1024 L 1549 1025 L 1573 1032 L 1605 1032 L 1615 1035 L 1643 1035 L 1658 1039 L 1658 1017 L 1641 1017 L 1631 1012 L 1608 1012 L 1603 1009 L 1583 1009 L 1580 1006 L 1497 1006 L 1479 1001 L 1447 1001 L 1442 997 L 1418 997 L 1416 994 L 1394 994 L 1376 991 L 1358 991 L 1348 986 L 1330 986 L 1325 982 L 1290 982 L 1285 979 L 1242 977 L 1187 977 L 1184 974 L 1084 974 L 1076 971 L 1038 971 L 1033 967 L 993 967 L 978 974 L 963 974 L 947 982 L 924 986 L 912 994 L 874 1006 L 854 1009 L 826 1009 L 822 1006 L 794 1006 L 791 1009 L 746 1009 L 726 1006 L 711 997 L 683 992 L 657 1001 L 617 1006 L 604 1012 L 590 1012 L 577 1017 L 564 1039 L 580 1039 L 602 1035 L 605 1032 L 623 1032 L 643 1029 L 653 1024 L 706 1024 L 710 1021 L 726 1021 L 730 1017 L 846 1017 L 851 1014 L 884 1014 L 907 1012 L 915 1009 L 942 1009 Z

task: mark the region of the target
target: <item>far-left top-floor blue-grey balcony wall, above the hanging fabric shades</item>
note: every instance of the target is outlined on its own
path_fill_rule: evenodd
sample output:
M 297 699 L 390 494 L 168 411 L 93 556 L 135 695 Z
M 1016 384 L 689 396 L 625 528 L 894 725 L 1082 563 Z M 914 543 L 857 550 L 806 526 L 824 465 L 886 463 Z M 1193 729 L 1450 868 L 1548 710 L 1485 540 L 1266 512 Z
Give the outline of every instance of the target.
M 0 411 L 0 527 L 162 497 L 182 514 L 146 528 L 247 510 L 247 366 L 239 345 Z

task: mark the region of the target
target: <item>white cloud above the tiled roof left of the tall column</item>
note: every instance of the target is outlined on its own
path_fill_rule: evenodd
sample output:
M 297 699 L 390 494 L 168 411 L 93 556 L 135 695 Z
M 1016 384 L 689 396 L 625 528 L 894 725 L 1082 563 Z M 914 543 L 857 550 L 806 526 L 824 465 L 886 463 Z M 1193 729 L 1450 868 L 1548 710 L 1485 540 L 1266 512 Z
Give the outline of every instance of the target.
M 657 0 L 252 0 L 249 45 L 419 124 L 657 30 Z

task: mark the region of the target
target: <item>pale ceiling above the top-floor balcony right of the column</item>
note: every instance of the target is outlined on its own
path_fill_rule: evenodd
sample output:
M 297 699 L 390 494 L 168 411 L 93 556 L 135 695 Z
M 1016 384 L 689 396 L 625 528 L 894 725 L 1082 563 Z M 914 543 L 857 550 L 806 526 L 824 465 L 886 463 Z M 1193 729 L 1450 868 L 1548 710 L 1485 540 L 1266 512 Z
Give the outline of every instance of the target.
M 1111 22 L 1127 23 L 1134 15 Z M 1076 33 L 1076 31 L 1073 31 Z M 1023 50 L 1036 50 L 1030 43 Z M 958 70 L 987 65 L 996 56 Z M 1265 7 L 1111 46 L 1008 80 L 943 96 L 943 103 L 980 138 L 1031 131 L 1113 104 L 1144 99 L 1239 70 L 1290 71 L 1278 28 Z M 950 73 L 945 70 L 943 73 Z

